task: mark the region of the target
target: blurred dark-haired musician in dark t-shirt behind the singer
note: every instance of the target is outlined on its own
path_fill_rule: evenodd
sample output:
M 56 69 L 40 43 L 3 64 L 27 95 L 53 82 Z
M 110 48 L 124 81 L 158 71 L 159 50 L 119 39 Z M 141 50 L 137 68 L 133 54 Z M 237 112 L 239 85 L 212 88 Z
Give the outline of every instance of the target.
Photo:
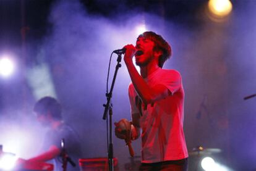
M 28 162 L 51 162 L 54 164 L 54 171 L 61 171 L 61 140 L 64 139 L 66 153 L 76 164 L 76 167 L 67 164 L 67 170 L 79 170 L 79 158 L 82 157 L 79 135 L 62 120 L 61 104 L 56 99 L 46 96 L 36 102 L 33 111 L 38 122 L 49 130 L 45 135 L 42 152 L 28 159 Z

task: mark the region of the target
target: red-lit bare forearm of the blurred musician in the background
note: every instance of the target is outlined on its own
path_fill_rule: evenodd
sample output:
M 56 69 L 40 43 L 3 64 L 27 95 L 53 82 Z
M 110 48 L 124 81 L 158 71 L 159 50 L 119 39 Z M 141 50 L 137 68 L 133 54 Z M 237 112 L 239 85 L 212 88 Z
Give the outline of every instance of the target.
M 46 162 L 46 161 L 53 159 L 56 156 L 59 156 L 59 154 L 61 154 L 61 149 L 59 149 L 57 146 L 53 145 L 49 148 L 48 151 L 45 151 L 36 157 L 28 159 L 28 161 Z

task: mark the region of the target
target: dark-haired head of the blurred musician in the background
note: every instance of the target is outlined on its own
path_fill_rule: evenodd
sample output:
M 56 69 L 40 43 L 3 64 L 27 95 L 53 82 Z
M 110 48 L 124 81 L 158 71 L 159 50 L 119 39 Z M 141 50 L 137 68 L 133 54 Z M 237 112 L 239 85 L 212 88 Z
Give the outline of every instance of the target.
M 59 104 L 56 99 L 49 96 L 38 100 L 33 111 L 37 119 L 43 123 L 43 125 L 50 125 L 51 122 L 62 120 L 61 104 Z

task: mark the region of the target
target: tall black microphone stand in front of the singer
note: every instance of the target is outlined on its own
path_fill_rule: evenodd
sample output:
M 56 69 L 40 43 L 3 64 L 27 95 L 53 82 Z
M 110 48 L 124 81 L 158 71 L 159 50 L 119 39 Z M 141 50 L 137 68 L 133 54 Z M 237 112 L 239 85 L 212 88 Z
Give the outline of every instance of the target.
M 110 104 L 111 98 L 112 98 L 112 93 L 113 93 L 113 88 L 114 88 L 114 83 L 116 81 L 116 75 L 117 75 L 117 71 L 118 69 L 121 67 L 121 54 L 122 53 L 118 53 L 118 57 L 117 57 L 117 64 L 116 64 L 116 70 L 114 71 L 114 77 L 113 77 L 113 81 L 111 84 L 111 88 L 109 93 L 106 93 L 106 98 L 107 98 L 107 102 L 106 104 L 103 104 L 103 106 L 105 107 L 105 111 L 103 114 L 103 120 L 106 120 L 106 116 L 107 113 L 109 112 L 109 144 L 108 144 L 108 163 L 109 163 L 109 171 L 113 171 L 114 167 L 113 167 L 113 140 L 112 140 L 112 104 Z M 108 120 L 107 120 L 108 122 Z M 108 124 L 108 123 L 107 123 Z

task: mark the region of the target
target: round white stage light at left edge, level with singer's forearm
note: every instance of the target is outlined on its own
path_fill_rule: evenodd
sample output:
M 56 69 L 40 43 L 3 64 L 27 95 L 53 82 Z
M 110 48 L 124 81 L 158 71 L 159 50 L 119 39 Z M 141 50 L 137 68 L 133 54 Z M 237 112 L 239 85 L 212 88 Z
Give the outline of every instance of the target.
M 14 62 L 9 57 L 2 57 L 0 59 L 0 75 L 8 77 L 14 72 Z

